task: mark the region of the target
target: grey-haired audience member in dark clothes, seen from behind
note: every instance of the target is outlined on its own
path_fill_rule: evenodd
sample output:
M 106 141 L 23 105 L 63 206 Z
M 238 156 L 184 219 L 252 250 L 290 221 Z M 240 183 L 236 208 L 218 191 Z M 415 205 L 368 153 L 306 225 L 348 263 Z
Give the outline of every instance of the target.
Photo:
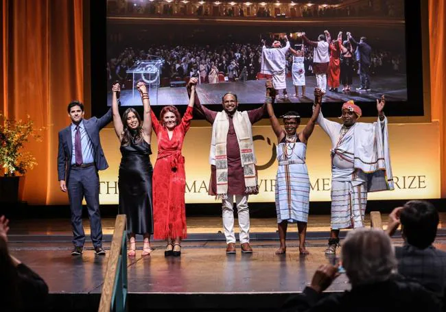
M 430 291 L 395 274 L 397 259 L 383 230 L 349 232 L 342 246 L 342 265 L 351 290 L 320 296 L 339 276 L 338 265 L 321 265 L 311 285 L 287 300 L 283 311 L 441 311 Z

